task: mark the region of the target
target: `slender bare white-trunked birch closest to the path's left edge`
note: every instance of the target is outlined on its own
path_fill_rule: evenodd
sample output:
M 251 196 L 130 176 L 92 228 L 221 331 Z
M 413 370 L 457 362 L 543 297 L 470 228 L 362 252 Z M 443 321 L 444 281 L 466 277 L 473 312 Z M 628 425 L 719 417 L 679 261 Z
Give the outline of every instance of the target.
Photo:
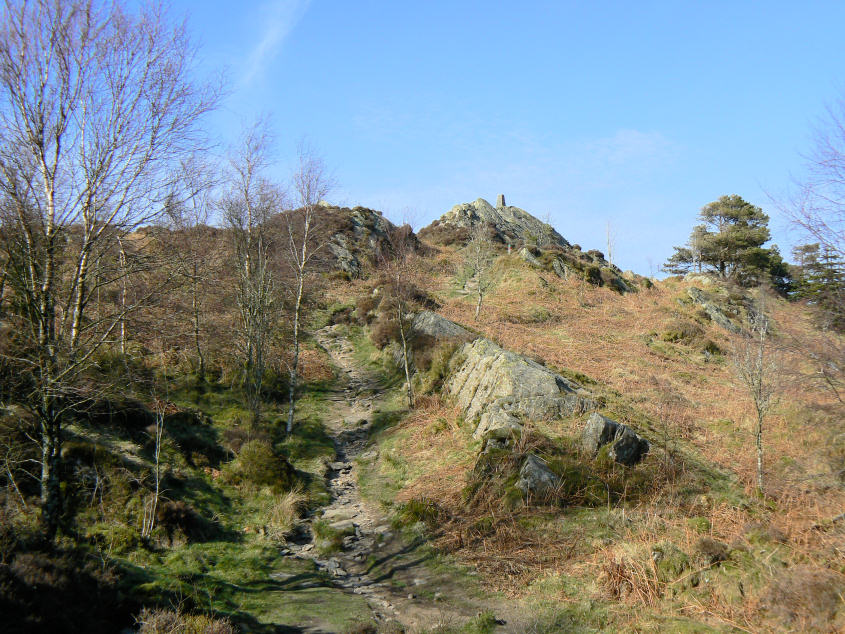
M 326 173 L 323 161 L 307 148 L 299 150 L 299 160 L 293 174 L 293 190 L 298 208 L 285 212 L 285 226 L 288 237 L 288 264 L 293 272 L 293 359 L 290 363 L 289 406 L 286 431 L 293 431 L 293 417 L 296 411 L 296 393 L 299 384 L 299 348 L 302 328 L 302 299 L 305 284 L 310 274 L 310 264 L 322 244 L 318 227 L 315 226 L 316 212 L 320 202 L 331 191 L 333 183 Z

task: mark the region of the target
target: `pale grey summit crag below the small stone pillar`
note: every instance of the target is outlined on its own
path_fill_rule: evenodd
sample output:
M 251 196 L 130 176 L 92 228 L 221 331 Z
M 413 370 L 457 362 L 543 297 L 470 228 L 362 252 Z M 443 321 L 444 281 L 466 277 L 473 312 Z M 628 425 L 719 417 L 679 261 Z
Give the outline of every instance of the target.
M 561 247 L 568 247 L 569 242 L 546 223 L 535 218 L 524 209 L 505 205 L 504 196 L 501 205 L 493 207 L 483 198 L 471 203 L 455 205 L 440 218 L 441 225 L 472 228 L 478 223 L 488 223 L 495 227 L 499 236 L 510 244 L 525 242 L 528 238 L 537 239 L 548 236 L 548 241 Z

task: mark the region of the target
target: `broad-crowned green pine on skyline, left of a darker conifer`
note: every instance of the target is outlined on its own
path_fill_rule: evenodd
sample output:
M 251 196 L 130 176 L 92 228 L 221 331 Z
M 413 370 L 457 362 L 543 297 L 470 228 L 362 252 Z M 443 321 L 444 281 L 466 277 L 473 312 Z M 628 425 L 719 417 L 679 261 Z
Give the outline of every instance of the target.
M 713 272 L 744 286 L 769 282 L 781 292 L 789 288 L 789 268 L 771 239 L 769 217 L 759 207 L 733 194 L 701 208 L 701 224 L 689 242 L 675 247 L 664 265 L 669 273 Z

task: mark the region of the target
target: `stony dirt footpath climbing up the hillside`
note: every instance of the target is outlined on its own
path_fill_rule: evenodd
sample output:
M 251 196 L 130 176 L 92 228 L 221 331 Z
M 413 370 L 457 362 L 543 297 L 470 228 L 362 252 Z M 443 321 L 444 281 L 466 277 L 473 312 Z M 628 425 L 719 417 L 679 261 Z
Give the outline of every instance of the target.
M 336 588 L 362 595 L 373 620 L 381 625 L 394 623 L 416 632 L 458 627 L 482 611 L 497 617 L 505 614 L 508 606 L 484 597 L 471 575 L 432 565 L 434 555 L 424 540 L 403 538 L 378 508 L 362 499 L 354 459 L 367 452 L 375 456 L 377 449 L 368 448 L 368 441 L 373 410 L 383 399 L 383 390 L 376 377 L 355 363 L 352 344 L 338 327 L 323 328 L 316 339 L 340 374 L 326 421 L 337 458 L 329 465 L 331 502 L 309 518 L 299 539 L 289 543 L 291 554 L 313 560 Z M 317 552 L 311 526 L 318 520 L 345 534 L 341 550 L 329 555 Z M 500 622 L 497 631 L 524 631 L 507 616 Z

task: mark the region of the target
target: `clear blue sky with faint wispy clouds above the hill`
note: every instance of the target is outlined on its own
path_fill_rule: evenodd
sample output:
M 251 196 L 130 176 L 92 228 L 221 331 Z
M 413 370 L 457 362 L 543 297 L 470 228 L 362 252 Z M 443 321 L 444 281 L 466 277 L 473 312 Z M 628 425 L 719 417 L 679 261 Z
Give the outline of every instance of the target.
M 571 242 L 648 274 L 704 204 L 800 176 L 845 96 L 843 2 L 176 0 L 231 92 L 231 141 L 270 115 L 278 176 L 303 138 L 338 188 L 419 227 L 504 193 Z

